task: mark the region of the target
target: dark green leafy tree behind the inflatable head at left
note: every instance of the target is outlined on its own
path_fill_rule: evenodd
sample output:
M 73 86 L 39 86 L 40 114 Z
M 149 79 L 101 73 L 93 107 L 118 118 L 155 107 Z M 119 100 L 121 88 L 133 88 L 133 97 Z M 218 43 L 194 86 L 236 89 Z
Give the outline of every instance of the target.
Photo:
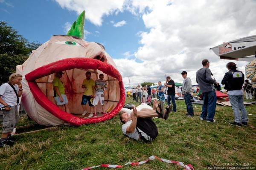
M 9 75 L 38 48 L 39 42 L 28 42 L 11 26 L 0 21 L 0 83 L 7 82 Z

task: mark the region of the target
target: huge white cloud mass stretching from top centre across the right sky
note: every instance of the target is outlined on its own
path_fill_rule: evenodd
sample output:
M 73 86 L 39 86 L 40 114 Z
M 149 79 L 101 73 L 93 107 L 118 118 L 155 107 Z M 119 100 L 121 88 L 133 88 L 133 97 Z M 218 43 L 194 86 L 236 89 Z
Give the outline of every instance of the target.
M 77 14 L 86 10 L 87 19 L 97 26 L 102 25 L 103 16 L 124 10 L 142 17 L 149 31 L 137 33 L 140 37 L 140 47 L 134 53 L 137 59 L 114 59 L 126 85 L 126 77 L 137 84 L 163 81 L 164 74 L 175 82 L 182 82 L 180 73 L 184 70 L 195 84 L 195 72 L 202 67 L 201 60 L 205 58 L 210 60 L 210 69 L 217 81 L 221 81 L 230 60 L 219 59 L 209 48 L 256 34 L 255 0 L 227 0 L 225 3 L 220 0 L 56 1 L 62 8 Z M 247 63 L 234 62 L 239 69 L 244 69 Z

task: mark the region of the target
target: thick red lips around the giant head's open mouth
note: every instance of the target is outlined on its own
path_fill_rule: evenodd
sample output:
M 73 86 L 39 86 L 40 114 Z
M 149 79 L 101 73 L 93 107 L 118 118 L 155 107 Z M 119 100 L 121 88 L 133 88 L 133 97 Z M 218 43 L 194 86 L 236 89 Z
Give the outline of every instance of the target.
M 49 74 L 53 74 L 59 71 L 70 70 L 73 68 L 98 69 L 103 73 L 116 78 L 119 81 L 120 99 L 116 107 L 113 109 L 113 111 L 98 118 L 90 118 L 90 119 L 79 118 L 77 116 L 74 116 L 70 113 L 64 112 L 61 109 L 59 109 L 54 103 L 52 103 L 44 95 L 44 93 L 41 91 L 41 89 L 38 87 L 37 83 L 35 82 L 36 79 L 45 77 Z M 111 119 L 120 111 L 120 109 L 123 107 L 125 102 L 125 92 L 124 92 L 124 85 L 122 82 L 121 74 L 112 65 L 109 65 L 97 59 L 84 58 L 84 57 L 62 59 L 57 62 L 52 62 L 50 64 L 44 65 L 40 68 L 35 69 L 34 71 L 31 71 L 30 73 L 25 75 L 25 78 L 28 82 L 30 91 L 32 92 L 38 104 L 40 104 L 49 113 L 52 113 L 52 115 L 58 117 L 59 119 L 65 122 L 70 123 L 70 125 L 97 123 L 97 122 L 105 121 L 107 119 Z

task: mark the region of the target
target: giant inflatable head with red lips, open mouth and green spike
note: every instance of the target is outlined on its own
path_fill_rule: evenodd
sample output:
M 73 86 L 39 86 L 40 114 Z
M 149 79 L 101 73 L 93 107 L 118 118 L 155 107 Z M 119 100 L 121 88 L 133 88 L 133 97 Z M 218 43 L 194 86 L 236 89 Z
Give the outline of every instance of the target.
M 85 11 L 79 16 L 68 31 L 68 35 L 54 35 L 51 39 L 32 51 L 29 58 L 17 65 L 17 73 L 23 75 L 22 105 L 35 122 L 41 125 L 82 125 L 111 119 L 122 108 L 125 100 L 122 76 L 116 69 L 113 59 L 105 48 L 96 42 L 83 40 Z M 62 71 L 61 80 L 69 101 L 70 112 L 62 111 L 55 105 L 52 80 L 55 73 Z M 84 89 L 82 82 L 85 73 L 90 71 L 96 80 L 98 74 L 104 74 L 108 82 L 105 91 L 105 108 L 108 114 L 95 118 L 83 118 L 81 97 Z M 88 107 L 88 106 L 86 106 Z M 113 109 L 111 109 L 113 108 Z M 89 111 L 89 108 L 87 108 Z M 97 107 L 97 112 L 102 112 Z

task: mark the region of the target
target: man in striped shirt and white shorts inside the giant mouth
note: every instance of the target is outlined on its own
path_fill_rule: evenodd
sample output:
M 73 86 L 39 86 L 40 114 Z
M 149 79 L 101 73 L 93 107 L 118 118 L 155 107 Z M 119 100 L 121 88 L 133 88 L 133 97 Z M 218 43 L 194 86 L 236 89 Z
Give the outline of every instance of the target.
M 105 107 L 104 107 L 104 91 L 107 89 L 107 82 L 104 79 L 104 75 L 100 74 L 99 79 L 95 81 L 95 97 L 93 99 L 93 106 L 94 106 L 94 116 L 96 116 L 97 105 L 100 102 L 102 106 L 103 114 L 106 114 Z

